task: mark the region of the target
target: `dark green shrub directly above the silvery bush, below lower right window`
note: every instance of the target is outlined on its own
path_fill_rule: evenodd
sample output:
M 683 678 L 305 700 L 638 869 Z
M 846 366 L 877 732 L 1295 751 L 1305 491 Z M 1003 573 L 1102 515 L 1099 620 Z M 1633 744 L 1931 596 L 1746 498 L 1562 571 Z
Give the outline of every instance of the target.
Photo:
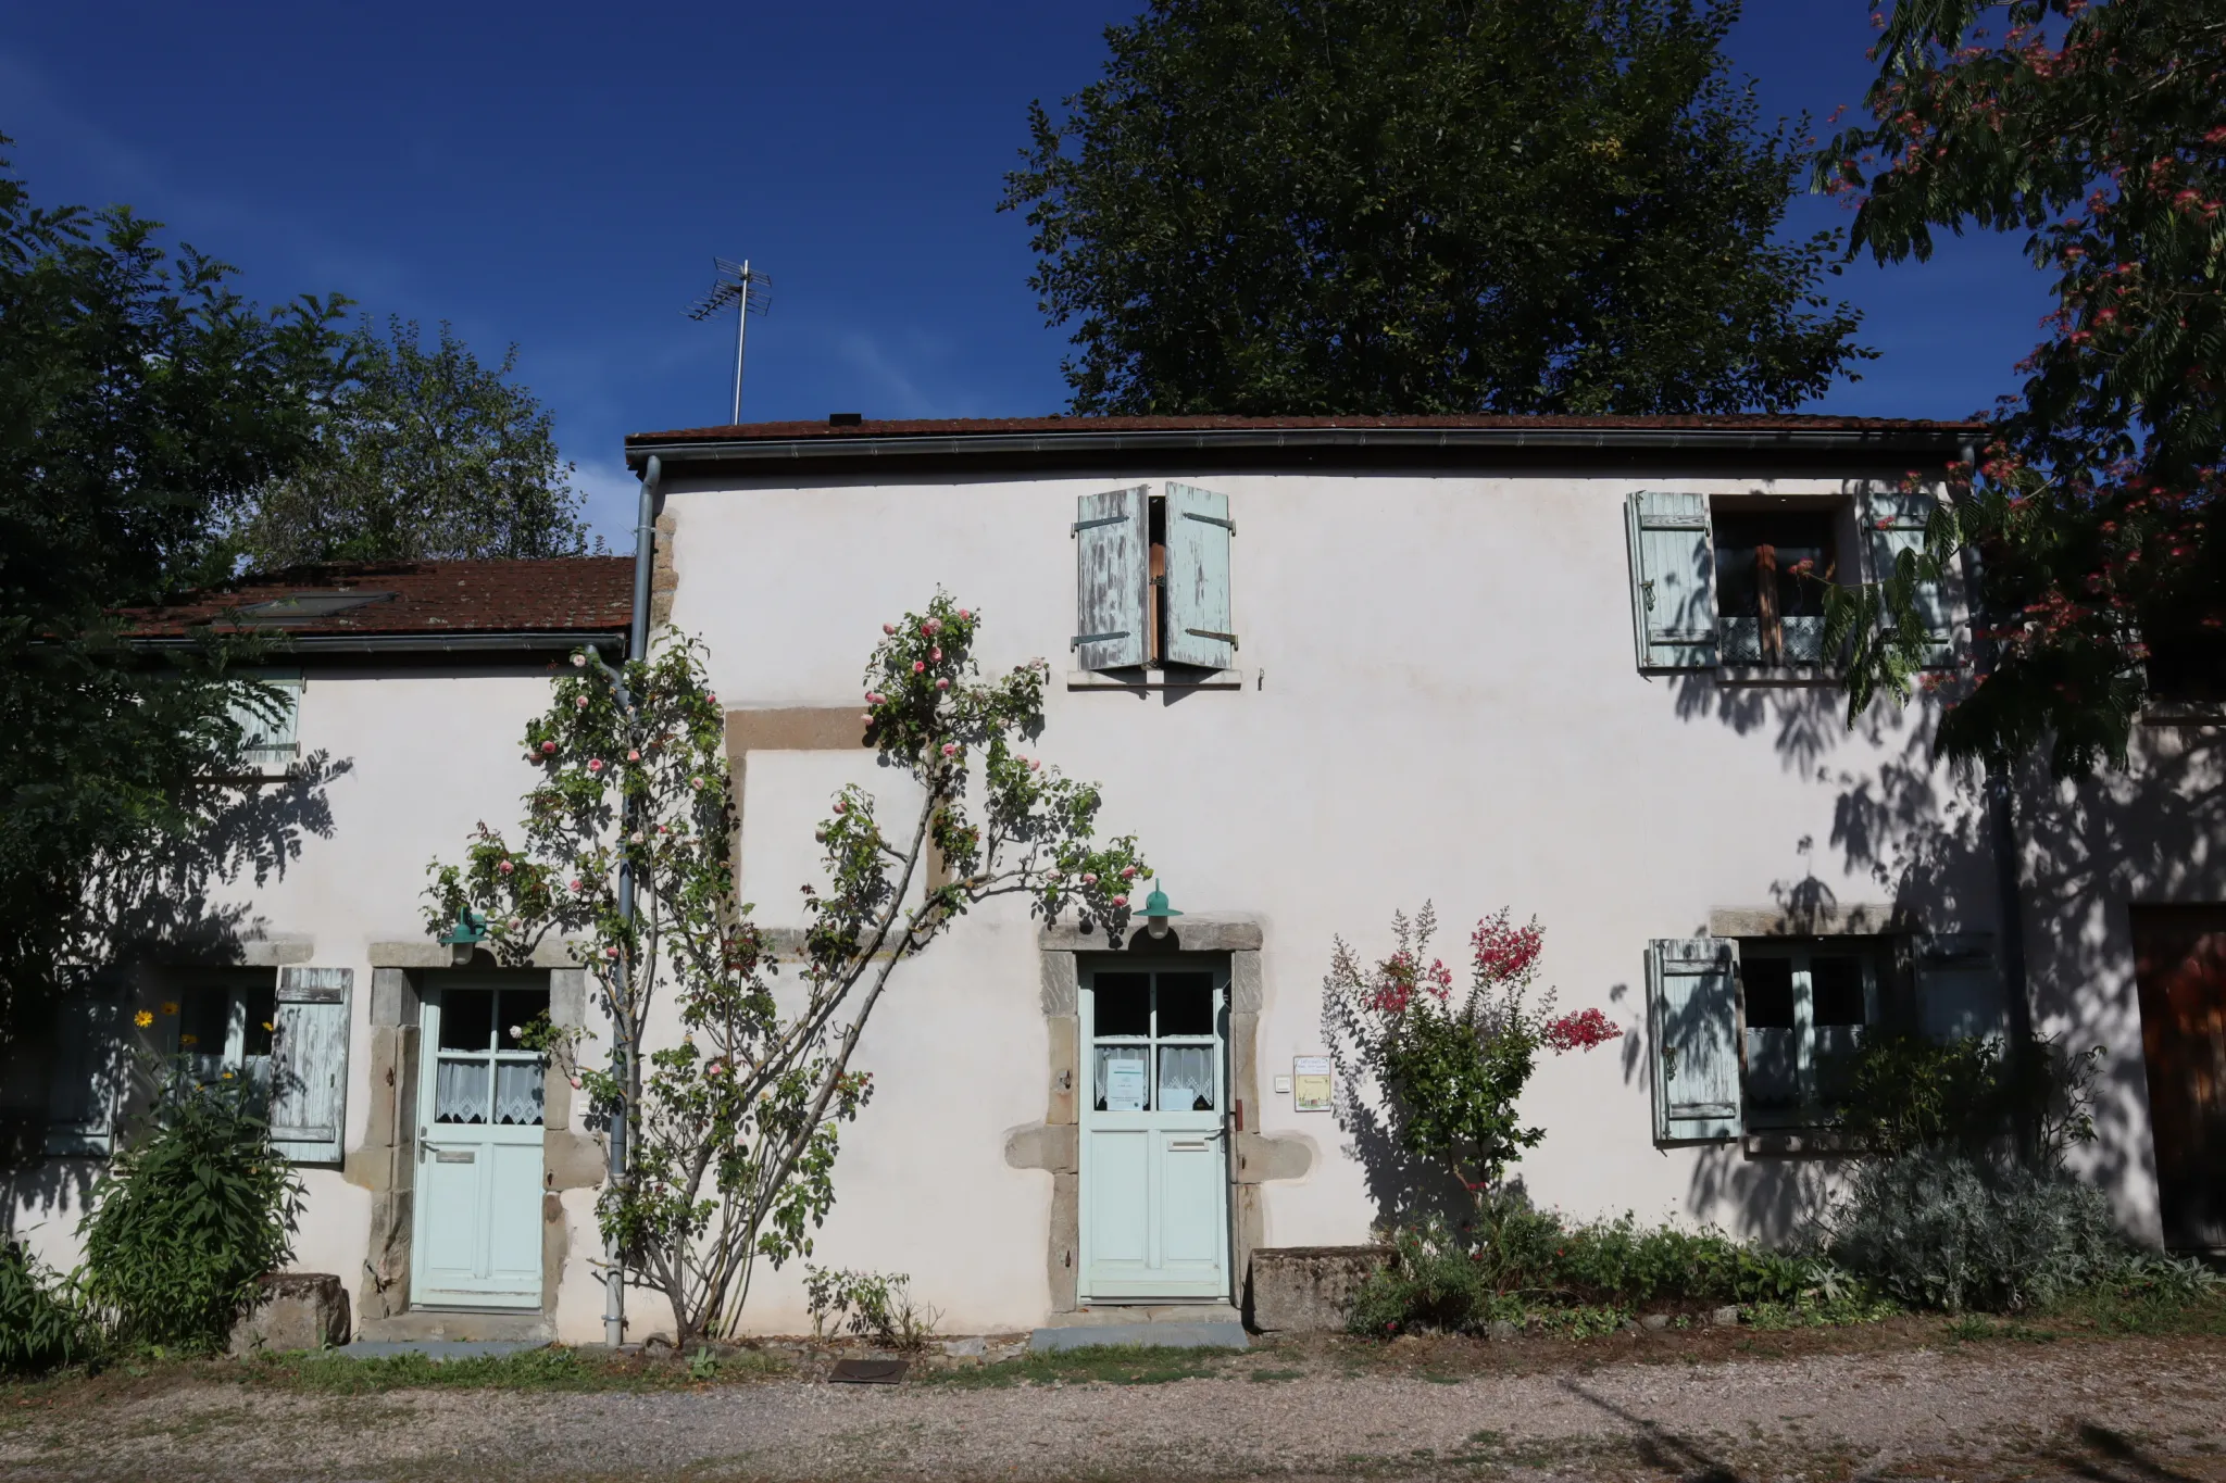
M 1983 1154 L 2010 1134 L 2037 1134 L 2039 1163 L 2095 1138 L 2092 1081 L 2101 1047 L 2066 1052 L 2032 1036 L 2010 1054 L 1999 1036 L 1870 1041 L 1848 1069 L 1839 1125 L 1874 1158 L 1914 1149 Z

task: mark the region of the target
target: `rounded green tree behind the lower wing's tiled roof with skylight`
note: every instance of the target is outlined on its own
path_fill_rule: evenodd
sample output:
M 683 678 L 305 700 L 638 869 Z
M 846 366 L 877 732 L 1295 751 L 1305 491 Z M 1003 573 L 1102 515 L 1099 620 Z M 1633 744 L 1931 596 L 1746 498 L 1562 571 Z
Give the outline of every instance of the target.
M 398 318 L 358 331 L 316 458 L 260 491 L 240 551 L 260 569 L 583 554 L 572 465 L 516 362 L 512 345 L 481 365 L 445 322 L 432 349 Z

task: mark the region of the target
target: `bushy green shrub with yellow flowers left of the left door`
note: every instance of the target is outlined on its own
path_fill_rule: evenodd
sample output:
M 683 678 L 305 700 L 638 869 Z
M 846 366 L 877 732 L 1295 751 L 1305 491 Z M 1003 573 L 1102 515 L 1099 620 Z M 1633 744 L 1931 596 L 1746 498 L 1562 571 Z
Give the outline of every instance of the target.
M 122 1343 L 218 1350 L 298 1218 L 256 1089 L 171 1078 L 78 1227 L 85 1294 Z

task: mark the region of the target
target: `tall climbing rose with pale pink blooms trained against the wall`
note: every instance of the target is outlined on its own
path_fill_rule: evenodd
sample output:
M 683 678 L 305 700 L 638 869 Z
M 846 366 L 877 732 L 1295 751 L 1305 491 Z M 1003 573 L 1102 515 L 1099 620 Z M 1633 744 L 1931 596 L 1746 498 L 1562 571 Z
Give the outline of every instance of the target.
M 735 894 L 726 727 L 688 636 L 623 671 L 577 654 L 525 727 L 541 778 L 519 840 L 481 825 L 461 865 L 430 872 L 430 932 L 472 912 L 501 963 L 528 963 L 552 934 L 581 943 L 610 1065 L 583 1058 L 579 1029 L 519 1029 L 623 1127 L 626 1167 L 597 1216 L 623 1281 L 672 1303 L 681 1345 L 737 1332 L 757 1258 L 810 1256 L 835 1203 L 837 1129 L 873 1096 L 857 1041 L 899 965 L 995 896 L 1117 934 L 1131 883 L 1151 874 L 1133 838 L 1095 838 L 1095 787 L 1022 752 L 1042 729 L 1048 665 L 984 678 L 979 623 L 937 594 L 881 625 L 859 729 L 917 800 L 884 823 L 864 787 L 835 794 L 817 827 L 824 880 L 801 887 L 797 983 L 779 996 L 775 945 Z M 648 1047 L 661 994 L 681 1038 Z

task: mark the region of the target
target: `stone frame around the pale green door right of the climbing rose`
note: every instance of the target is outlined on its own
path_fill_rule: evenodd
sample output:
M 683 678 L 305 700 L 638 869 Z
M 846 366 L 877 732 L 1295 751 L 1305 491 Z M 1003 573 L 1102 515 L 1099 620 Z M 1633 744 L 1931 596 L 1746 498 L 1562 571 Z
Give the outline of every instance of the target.
M 1082 1021 L 1080 954 L 1133 952 L 1140 958 L 1215 954 L 1229 958 L 1229 1103 L 1242 1132 L 1229 1141 L 1229 1303 L 1244 1292 L 1251 1254 L 1264 1241 L 1260 1185 L 1273 1178 L 1304 1178 L 1313 1167 L 1313 1145 L 1293 1136 L 1267 1136 L 1260 1125 L 1260 923 L 1253 916 L 1191 912 L 1180 929 L 1153 938 L 1135 927 L 1126 943 L 1104 932 L 1082 932 L 1060 920 L 1037 934 L 1042 956 L 1042 1009 L 1051 1032 L 1048 1105 L 1042 1123 L 1015 1127 L 1004 1141 L 1004 1161 L 1015 1170 L 1051 1174 L 1051 1227 L 1044 1270 L 1051 1278 L 1051 1310 L 1080 1312 L 1082 1281 Z M 1097 1301 L 1097 1307 L 1117 1303 Z

